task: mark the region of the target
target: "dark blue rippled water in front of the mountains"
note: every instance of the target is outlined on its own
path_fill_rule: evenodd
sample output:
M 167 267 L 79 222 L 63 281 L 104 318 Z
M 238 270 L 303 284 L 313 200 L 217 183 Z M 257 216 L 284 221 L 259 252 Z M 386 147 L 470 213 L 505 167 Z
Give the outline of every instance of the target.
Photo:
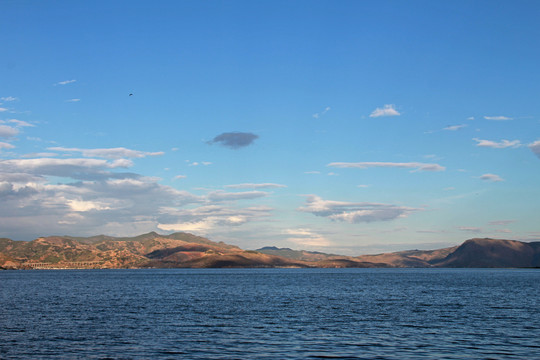
M 540 359 L 540 271 L 0 271 L 0 359 Z

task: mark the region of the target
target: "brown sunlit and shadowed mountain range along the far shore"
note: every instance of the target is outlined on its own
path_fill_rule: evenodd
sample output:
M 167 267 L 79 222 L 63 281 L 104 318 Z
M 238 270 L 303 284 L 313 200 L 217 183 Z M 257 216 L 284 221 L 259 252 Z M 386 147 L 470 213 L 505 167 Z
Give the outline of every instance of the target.
M 540 267 L 540 242 L 470 239 L 438 250 L 343 256 L 264 247 L 243 250 L 189 233 L 136 237 L 49 236 L 33 241 L 0 238 L 0 269 L 224 268 L 224 267 Z

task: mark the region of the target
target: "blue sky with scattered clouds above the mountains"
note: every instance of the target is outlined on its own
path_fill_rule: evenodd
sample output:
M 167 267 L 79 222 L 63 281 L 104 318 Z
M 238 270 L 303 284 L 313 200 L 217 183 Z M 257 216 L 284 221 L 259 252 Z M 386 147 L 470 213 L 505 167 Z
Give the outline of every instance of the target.
M 0 237 L 540 239 L 538 1 L 0 1 Z

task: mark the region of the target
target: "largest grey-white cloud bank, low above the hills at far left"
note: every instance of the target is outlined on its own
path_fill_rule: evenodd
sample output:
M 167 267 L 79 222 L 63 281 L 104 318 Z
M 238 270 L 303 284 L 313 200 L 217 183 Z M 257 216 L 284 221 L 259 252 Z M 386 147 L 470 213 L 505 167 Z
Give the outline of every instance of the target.
M 94 235 L 98 228 L 124 236 L 157 230 L 158 218 L 167 215 L 163 209 L 207 202 L 157 179 L 113 172 L 128 165 L 125 159 L 0 160 L 2 236 Z M 67 182 L 53 184 L 49 176 Z M 234 215 L 228 221 L 240 222 Z

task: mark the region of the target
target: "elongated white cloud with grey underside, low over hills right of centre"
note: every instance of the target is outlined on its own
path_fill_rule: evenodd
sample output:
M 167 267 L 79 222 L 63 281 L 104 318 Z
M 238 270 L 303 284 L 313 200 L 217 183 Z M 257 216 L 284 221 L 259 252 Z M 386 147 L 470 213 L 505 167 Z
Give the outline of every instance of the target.
M 331 201 L 317 195 L 307 195 L 306 206 L 298 210 L 334 221 L 357 224 L 407 217 L 409 213 L 420 209 L 370 202 Z

